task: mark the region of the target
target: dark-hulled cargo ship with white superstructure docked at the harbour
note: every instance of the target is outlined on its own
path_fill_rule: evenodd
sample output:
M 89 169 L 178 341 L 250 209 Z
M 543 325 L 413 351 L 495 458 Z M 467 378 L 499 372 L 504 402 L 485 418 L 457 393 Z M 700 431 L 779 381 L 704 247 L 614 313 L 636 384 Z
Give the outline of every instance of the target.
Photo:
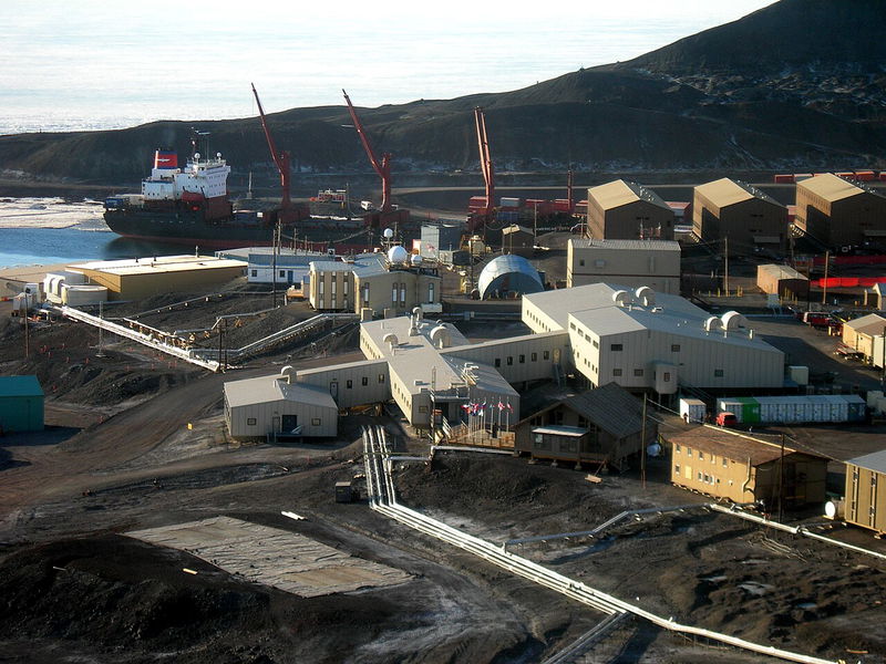
M 279 224 L 282 245 L 338 253 L 371 250 L 379 246 L 380 231 L 387 226 L 396 225 L 403 241 L 420 235 L 404 211 L 396 219 L 382 219 L 371 210 L 357 217 L 311 216 L 307 207 L 296 205 L 235 209 L 227 189 L 229 174 L 220 153 L 204 157 L 195 149 L 182 168 L 175 152 L 157 149 L 140 194 L 105 199 L 105 224 L 127 238 L 216 249 L 271 246 Z

